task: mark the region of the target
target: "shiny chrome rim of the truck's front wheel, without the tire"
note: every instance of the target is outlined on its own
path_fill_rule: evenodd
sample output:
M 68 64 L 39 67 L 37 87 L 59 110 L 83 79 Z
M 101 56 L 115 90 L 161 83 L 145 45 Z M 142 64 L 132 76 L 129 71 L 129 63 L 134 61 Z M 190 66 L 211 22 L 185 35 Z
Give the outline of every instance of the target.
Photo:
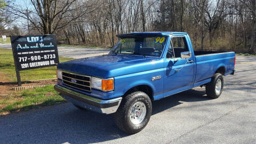
M 146 105 L 145 103 L 138 101 L 135 102 L 130 110 L 130 121 L 132 124 L 137 125 L 140 124 L 147 113 Z

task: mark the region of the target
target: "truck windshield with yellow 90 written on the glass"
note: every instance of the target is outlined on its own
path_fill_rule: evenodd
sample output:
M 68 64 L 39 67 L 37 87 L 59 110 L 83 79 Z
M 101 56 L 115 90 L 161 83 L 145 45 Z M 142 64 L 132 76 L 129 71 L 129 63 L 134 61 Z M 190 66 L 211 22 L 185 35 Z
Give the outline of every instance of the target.
M 166 39 L 166 36 L 121 38 L 110 53 L 160 57 Z

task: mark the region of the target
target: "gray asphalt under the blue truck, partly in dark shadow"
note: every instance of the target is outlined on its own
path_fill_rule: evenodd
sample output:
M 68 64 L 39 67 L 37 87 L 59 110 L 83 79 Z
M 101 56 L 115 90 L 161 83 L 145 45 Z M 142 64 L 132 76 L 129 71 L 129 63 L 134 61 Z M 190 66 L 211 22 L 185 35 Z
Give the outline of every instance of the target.
M 1 47 L 1 46 L 0 46 Z M 256 143 L 256 57 L 238 56 L 218 99 L 204 88 L 153 102 L 146 128 L 120 131 L 114 115 L 71 103 L 0 117 L 0 143 Z

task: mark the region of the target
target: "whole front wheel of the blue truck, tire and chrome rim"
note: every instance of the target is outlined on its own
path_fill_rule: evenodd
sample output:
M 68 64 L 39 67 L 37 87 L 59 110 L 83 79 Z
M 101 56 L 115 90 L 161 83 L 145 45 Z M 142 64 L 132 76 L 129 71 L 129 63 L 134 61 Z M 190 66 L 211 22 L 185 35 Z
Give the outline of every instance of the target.
M 124 132 L 140 132 L 148 124 L 152 112 L 151 100 L 144 92 L 125 95 L 115 113 L 117 126 Z

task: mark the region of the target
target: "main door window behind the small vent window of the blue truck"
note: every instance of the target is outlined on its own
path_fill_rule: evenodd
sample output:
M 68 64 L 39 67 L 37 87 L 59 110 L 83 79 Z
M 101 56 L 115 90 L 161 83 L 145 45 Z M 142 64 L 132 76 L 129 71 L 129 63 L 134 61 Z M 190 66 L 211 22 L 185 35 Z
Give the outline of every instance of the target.
M 188 52 L 188 44 L 185 37 L 177 36 L 171 39 L 175 58 L 180 57 L 181 52 Z

